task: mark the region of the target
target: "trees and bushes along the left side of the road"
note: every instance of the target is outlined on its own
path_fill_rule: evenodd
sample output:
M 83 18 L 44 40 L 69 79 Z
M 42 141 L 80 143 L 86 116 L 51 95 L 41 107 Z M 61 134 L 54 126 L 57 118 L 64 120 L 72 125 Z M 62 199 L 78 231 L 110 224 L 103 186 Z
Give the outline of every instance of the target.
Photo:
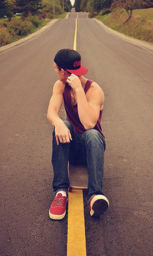
M 54 18 L 64 18 L 71 7 L 70 0 L 0 0 L 0 46 L 26 37 Z

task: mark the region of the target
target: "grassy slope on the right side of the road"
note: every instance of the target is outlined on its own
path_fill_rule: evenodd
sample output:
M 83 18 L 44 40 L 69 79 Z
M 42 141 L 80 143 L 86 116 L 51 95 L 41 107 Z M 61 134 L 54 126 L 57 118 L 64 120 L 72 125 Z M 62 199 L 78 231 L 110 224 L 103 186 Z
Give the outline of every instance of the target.
M 153 43 L 153 8 L 133 10 L 132 18 L 125 24 L 128 14 L 124 9 L 116 9 L 96 18 L 125 35 Z

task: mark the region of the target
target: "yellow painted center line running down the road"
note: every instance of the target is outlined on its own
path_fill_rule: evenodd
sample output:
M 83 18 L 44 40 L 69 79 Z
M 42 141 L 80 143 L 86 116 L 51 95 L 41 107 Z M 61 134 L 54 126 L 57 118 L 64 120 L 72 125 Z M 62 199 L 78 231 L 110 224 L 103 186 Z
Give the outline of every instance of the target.
M 77 12 L 78 18 L 78 12 Z M 73 49 L 77 48 L 77 18 Z M 67 256 L 86 256 L 83 191 L 72 190 L 68 194 Z

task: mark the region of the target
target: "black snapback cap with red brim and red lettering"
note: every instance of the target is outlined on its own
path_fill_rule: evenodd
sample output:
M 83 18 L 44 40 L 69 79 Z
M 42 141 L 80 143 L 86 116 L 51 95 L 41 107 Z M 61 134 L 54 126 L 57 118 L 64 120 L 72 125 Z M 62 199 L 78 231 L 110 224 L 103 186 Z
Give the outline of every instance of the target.
M 55 55 L 54 62 L 58 67 L 67 70 L 74 75 L 84 75 L 88 69 L 81 65 L 80 54 L 73 49 L 61 49 Z

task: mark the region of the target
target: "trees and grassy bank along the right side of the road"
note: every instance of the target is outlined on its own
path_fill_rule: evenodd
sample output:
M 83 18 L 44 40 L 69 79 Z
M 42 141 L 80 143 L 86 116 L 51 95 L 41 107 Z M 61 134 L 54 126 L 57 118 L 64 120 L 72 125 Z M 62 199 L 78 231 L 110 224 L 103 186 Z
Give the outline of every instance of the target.
M 153 43 L 153 0 L 75 0 L 74 7 L 114 30 Z

